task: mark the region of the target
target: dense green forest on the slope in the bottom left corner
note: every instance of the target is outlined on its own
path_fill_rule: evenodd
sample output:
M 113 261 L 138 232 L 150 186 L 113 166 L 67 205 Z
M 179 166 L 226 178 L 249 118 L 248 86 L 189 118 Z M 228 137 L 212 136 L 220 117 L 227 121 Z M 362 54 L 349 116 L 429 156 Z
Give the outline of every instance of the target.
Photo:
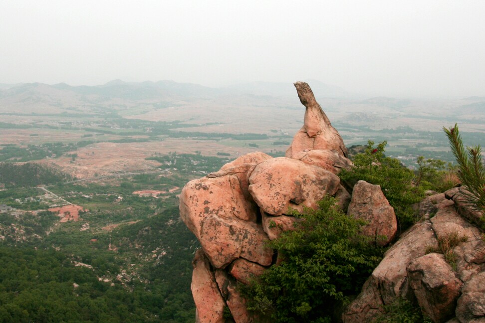
M 118 283 L 100 282 L 64 253 L 0 247 L 0 323 L 190 322 L 182 316 L 166 319 L 164 305 L 138 286 L 130 292 Z

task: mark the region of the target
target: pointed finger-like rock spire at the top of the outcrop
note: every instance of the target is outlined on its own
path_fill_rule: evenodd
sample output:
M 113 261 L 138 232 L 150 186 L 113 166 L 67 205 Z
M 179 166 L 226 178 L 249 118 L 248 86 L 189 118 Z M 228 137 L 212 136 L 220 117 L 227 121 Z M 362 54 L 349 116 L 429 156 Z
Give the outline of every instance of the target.
M 305 150 L 324 149 L 334 150 L 347 157 L 347 148 L 342 137 L 316 102 L 310 86 L 304 82 L 296 82 L 294 85 L 301 104 L 305 106 L 305 118 L 303 127 L 294 136 L 285 156 L 292 158 Z

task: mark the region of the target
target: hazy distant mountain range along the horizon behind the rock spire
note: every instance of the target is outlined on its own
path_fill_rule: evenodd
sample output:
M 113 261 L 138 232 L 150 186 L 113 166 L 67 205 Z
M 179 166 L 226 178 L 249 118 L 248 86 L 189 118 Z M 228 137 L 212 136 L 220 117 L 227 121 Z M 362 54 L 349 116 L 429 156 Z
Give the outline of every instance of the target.
M 453 101 L 421 101 L 388 97 L 364 98 L 317 80 L 307 80 L 324 111 L 345 119 L 355 113 L 371 113 L 386 119 L 485 120 L 485 98 L 469 97 Z M 300 110 L 291 83 L 251 82 L 222 88 L 206 87 L 170 80 L 124 82 L 113 80 L 96 86 L 71 86 L 66 83 L 0 84 L 2 114 L 119 114 L 142 115 L 167 107 L 198 108 L 289 108 Z M 187 114 L 184 110 L 182 114 Z M 209 113 L 204 110 L 204 113 Z M 233 109 L 233 112 L 236 110 Z M 160 112 L 161 113 L 161 112 Z M 160 116 L 160 113 L 158 116 Z M 363 115 L 353 116 L 355 123 L 367 123 Z M 146 117 L 152 118 L 153 116 Z M 157 117 L 159 118 L 159 117 Z M 349 122 L 350 122 L 349 119 Z M 386 123 L 385 121 L 383 123 Z

